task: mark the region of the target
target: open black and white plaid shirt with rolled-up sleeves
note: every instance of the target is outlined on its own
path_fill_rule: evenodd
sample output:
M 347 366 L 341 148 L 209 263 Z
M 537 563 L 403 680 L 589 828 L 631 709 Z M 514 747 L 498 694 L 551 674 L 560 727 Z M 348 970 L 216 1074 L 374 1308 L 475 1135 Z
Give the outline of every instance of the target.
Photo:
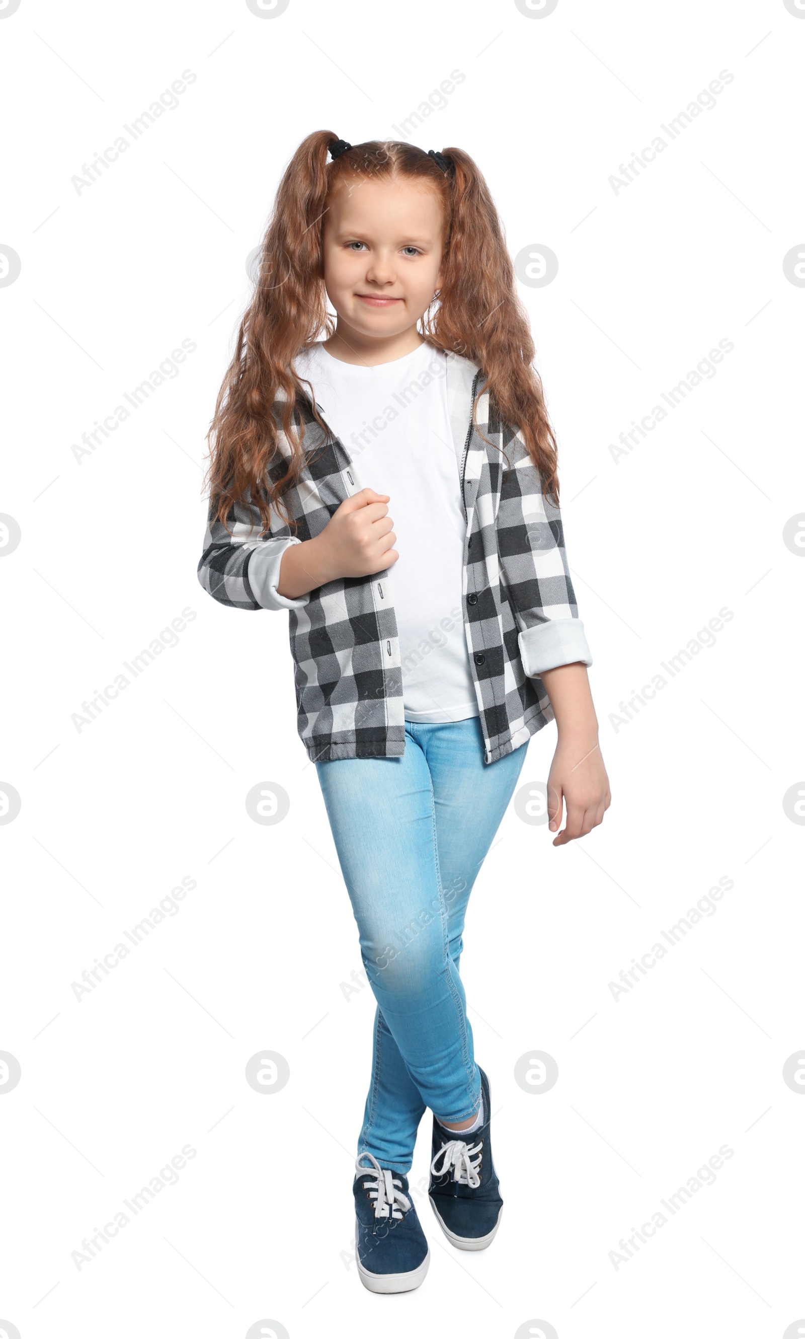
M 484 763 L 492 763 L 554 719 L 540 672 L 576 660 L 592 664 L 592 656 L 559 509 L 543 497 L 516 428 L 491 419 L 485 392 L 476 416 L 492 446 L 472 423 L 480 370 L 455 353 L 444 356 L 467 516 L 464 632 Z M 364 486 L 344 445 L 322 432 L 305 396 L 296 415 L 305 423 L 305 465 L 283 502 L 298 521 L 297 534 L 273 509 L 265 533 L 249 501 L 230 509 L 229 530 L 210 509 L 198 578 L 231 608 L 289 611 L 297 728 L 312 761 L 394 758 L 405 751 L 405 716 L 393 568 L 328 581 L 296 600 L 277 590 L 286 548 L 320 534 L 341 502 Z M 290 457 L 282 432 L 278 447 L 273 481 L 282 478 Z

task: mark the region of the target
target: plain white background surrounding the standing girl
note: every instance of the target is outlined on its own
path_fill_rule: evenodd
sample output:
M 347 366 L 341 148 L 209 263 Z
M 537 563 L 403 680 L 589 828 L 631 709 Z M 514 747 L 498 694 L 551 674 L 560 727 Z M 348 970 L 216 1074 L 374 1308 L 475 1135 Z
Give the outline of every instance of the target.
M 0 1098 L 7 1332 L 788 1336 L 805 1316 L 805 1095 L 782 1078 L 805 1043 L 805 833 L 782 797 L 805 787 L 805 564 L 782 530 L 805 511 L 805 291 L 782 260 L 805 236 L 805 12 L 290 0 L 265 20 L 245 0 L 21 0 L 0 44 L 0 244 L 21 258 L 0 288 L 0 511 L 21 530 L 0 562 L 0 779 L 21 797 L 0 829 L 0 1050 L 21 1066 Z M 178 108 L 76 193 L 185 70 Z M 501 1228 L 455 1252 L 420 1196 L 429 1275 L 377 1297 L 352 1259 L 374 1002 L 341 988 L 357 931 L 297 736 L 286 616 L 202 592 L 201 481 L 290 154 L 322 127 L 396 138 L 453 70 L 464 82 L 411 138 L 473 155 L 512 254 L 559 257 L 520 291 L 612 805 L 559 849 L 513 805 L 501 825 L 461 964 Z M 608 177 L 722 70 L 715 108 L 615 194 Z M 183 339 L 179 375 L 79 463 L 71 446 Z M 610 443 L 721 339 L 717 375 L 615 462 Z M 722 607 L 715 645 L 611 722 Z M 178 645 L 76 730 L 185 608 Z M 531 740 L 524 785 L 554 744 L 552 724 Z M 275 826 L 246 813 L 259 782 L 290 797 Z M 79 1003 L 71 983 L 183 876 L 181 911 Z M 717 913 L 615 1002 L 608 983 L 722 876 Z M 282 1091 L 245 1081 L 261 1047 L 290 1066 Z M 550 1093 L 515 1082 L 530 1050 L 559 1066 Z M 183 1145 L 179 1184 L 76 1268 Z M 615 1268 L 619 1240 L 722 1145 L 717 1182 Z

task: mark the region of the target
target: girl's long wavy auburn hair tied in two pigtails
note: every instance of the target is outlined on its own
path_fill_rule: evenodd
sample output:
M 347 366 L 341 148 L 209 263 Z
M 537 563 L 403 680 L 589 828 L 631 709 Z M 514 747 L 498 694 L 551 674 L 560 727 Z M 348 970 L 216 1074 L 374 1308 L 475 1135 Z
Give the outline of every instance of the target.
M 340 182 L 365 178 L 425 181 L 437 193 L 444 217 L 443 285 L 423 316 L 421 335 L 435 348 L 480 366 L 491 420 L 518 428 L 539 470 L 543 493 L 558 502 L 556 438 L 532 366 L 528 316 L 481 173 L 461 149 L 443 150 L 453 165 L 444 173 L 423 149 L 398 141 L 356 145 L 328 163 L 328 146 L 334 139 L 330 130 L 308 135 L 279 182 L 254 297 L 241 321 L 207 432 L 206 483 L 218 520 L 226 525 L 231 506 L 249 499 L 265 532 L 271 509 L 296 529 L 282 494 L 296 485 L 305 465 L 297 396 L 309 399 L 309 394 L 293 360 L 334 331 L 322 265 L 328 200 Z M 281 406 L 277 416 L 275 406 Z M 477 396 L 473 419 L 476 406 Z M 316 406 L 313 415 L 324 427 Z M 286 439 L 282 453 L 279 430 Z M 281 461 L 285 471 L 277 469 Z

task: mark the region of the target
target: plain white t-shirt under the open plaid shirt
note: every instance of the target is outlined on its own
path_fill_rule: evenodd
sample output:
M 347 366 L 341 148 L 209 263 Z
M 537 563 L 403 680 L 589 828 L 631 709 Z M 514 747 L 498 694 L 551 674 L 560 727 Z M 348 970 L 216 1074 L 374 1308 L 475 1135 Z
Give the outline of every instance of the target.
M 361 487 L 389 494 L 400 554 L 388 581 L 397 616 L 402 706 L 413 722 L 477 716 L 464 632 L 467 522 L 447 400 L 447 359 L 420 344 L 378 367 L 320 344 L 296 360 L 354 462 Z

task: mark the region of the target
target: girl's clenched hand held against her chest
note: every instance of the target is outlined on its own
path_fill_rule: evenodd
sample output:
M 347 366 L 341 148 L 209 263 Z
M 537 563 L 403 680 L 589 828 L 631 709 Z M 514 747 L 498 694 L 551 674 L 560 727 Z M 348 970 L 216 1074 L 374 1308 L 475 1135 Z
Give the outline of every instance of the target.
M 330 572 L 330 580 L 373 576 L 397 561 L 400 554 L 393 548 L 397 536 L 388 514 L 388 493 L 376 493 L 374 489 L 353 493 L 312 541 Z

